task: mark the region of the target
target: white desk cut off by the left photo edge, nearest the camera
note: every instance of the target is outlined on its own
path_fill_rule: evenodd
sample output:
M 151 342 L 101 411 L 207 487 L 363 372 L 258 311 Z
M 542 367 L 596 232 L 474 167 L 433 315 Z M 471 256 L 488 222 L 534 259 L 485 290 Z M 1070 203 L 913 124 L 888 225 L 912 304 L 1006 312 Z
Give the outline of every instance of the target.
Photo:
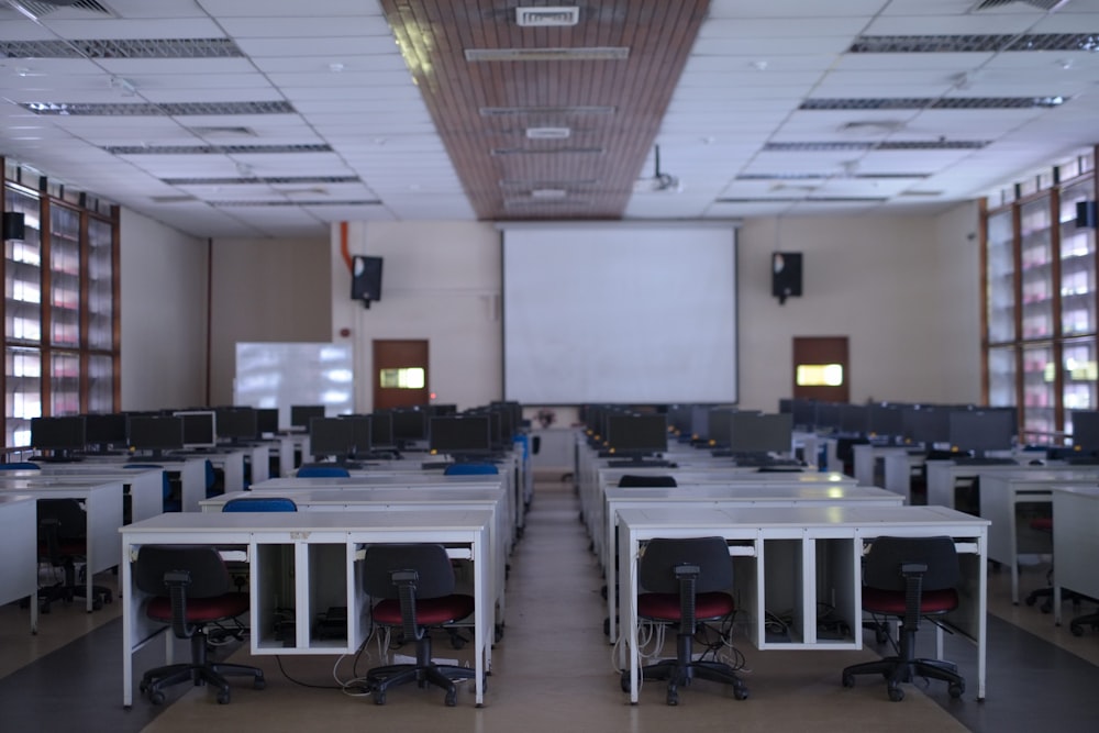
M 38 518 L 34 497 L 0 493 L 0 606 L 31 599 L 31 633 L 38 633 Z

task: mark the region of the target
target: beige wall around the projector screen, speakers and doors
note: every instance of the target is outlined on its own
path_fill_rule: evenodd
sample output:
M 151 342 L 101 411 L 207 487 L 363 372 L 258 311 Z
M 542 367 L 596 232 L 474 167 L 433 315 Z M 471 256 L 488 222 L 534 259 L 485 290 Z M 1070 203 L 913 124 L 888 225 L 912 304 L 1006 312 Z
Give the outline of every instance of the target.
M 753 219 L 740 231 L 741 404 L 790 393 L 796 335 L 851 340 L 852 399 L 976 402 L 978 243 L 973 206 L 937 218 Z M 355 222 L 352 254 L 385 260 L 382 299 L 349 298 L 340 226 L 328 242 L 219 240 L 212 248 L 210 401 L 232 401 L 240 341 L 349 340 L 368 411 L 375 338 L 425 338 L 437 401 L 501 397 L 500 233 L 484 222 Z M 123 408 L 206 395 L 207 245 L 124 212 Z M 804 253 L 804 295 L 770 296 L 770 252 Z M 567 284 L 551 284 L 567 298 Z M 341 335 L 346 329 L 347 336 Z

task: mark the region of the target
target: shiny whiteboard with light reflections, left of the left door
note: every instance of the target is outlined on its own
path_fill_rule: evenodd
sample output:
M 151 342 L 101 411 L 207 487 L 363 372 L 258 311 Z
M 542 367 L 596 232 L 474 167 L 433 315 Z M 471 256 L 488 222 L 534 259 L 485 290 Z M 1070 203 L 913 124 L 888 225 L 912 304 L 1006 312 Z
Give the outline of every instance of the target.
M 323 404 L 326 415 L 354 412 L 354 376 L 348 344 L 241 342 L 233 404 L 278 408 L 279 430 L 287 430 L 291 404 Z

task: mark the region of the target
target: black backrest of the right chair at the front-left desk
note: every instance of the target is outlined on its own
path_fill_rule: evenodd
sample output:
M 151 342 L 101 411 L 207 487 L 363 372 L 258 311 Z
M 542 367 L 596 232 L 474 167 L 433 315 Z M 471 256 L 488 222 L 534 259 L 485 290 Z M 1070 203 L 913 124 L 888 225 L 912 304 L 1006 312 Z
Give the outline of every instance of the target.
M 392 574 L 413 570 L 417 598 L 441 598 L 454 592 L 454 568 L 446 548 L 432 544 L 369 545 L 363 559 L 363 587 L 373 598 L 399 598 Z

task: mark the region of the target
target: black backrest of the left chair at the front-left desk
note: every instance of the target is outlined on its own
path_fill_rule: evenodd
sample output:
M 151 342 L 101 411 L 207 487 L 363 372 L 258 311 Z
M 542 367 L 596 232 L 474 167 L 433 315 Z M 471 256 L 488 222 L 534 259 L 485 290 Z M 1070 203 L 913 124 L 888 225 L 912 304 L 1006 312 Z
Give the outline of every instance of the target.
M 232 578 L 225 560 L 217 547 L 210 545 L 144 545 L 133 564 L 134 584 L 137 589 L 154 596 L 170 596 L 164 584 L 164 574 L 190 574 L 188 598 L 214 598 L 233 590 Z

